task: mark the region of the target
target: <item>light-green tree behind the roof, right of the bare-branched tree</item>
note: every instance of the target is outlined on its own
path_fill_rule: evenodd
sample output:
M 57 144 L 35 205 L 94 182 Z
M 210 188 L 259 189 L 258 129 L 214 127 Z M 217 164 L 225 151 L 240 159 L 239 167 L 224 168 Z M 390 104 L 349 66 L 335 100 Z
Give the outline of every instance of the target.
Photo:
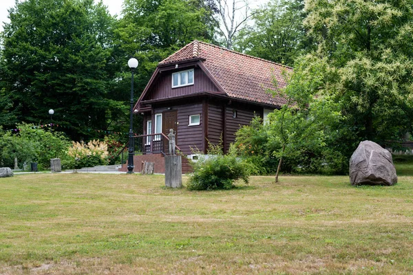
M 269 61 L 293 66 L 295 58 L 310 52 L 306 36 L 304 0 L 273 0 L 253 15 L 253 25 L 240 32 L 236 48 Z

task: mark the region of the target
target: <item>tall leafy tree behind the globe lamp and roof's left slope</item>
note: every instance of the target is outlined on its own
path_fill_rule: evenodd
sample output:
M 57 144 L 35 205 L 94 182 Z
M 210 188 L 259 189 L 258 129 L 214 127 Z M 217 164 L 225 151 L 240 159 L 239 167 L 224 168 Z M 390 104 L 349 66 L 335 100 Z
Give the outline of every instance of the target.
M 147 85 L 156 65 L 181 47 L 198 39 L 213 41 L 215 23 L 211 5 L 201 0 L 125 0 L 123 17 L 114 30 L 113 58 L 118 65 L 112 94 L 125 98 L 131 74 L 130 57 L 139 61 L 135 79 L 135 99 Z M 140 131 L 140 117 L 135 129 Z

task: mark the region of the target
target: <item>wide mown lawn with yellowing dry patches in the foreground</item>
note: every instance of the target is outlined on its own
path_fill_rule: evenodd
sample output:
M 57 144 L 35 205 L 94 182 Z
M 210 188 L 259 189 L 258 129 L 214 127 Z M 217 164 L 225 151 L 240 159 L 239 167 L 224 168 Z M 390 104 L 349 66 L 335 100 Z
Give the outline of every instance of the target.
M 252 177 L 195 192 L 160 175 L 0 179 L 0 274 L 406 274 L 413 177 Z

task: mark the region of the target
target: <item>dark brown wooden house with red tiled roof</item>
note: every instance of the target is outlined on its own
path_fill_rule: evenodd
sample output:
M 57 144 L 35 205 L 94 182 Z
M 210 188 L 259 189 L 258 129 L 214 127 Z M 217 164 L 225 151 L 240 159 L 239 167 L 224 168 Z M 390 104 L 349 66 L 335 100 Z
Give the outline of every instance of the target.
M 221 136 L 228 150 L 240 126 L 284 104 L 266 92 L 275 89 L 273 78 L 278 87 L 285 86 L 283 70 L 292 68 L 200 41 L 161 61 L 134 107 L 144 117 L 145 135 L 136 171 L 147 160 L 162 173 L 160 151 L 167 150 L 161 141 L 169 129 L 176 131 L 184 155 L 191 157 L 195 147 L 207 152 L 208 141 L 217 144 Z

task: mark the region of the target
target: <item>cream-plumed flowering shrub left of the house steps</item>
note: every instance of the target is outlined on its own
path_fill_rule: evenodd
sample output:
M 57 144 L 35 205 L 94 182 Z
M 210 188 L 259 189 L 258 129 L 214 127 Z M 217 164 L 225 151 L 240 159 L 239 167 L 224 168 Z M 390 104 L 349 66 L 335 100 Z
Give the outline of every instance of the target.
M 85 142 L 72 142 L 72 146 L 67 151 L 67 155 L 72 159 L 73 168 L 92 167 L 96 165 L 107 165 L 106 142 L 91 140 Z

